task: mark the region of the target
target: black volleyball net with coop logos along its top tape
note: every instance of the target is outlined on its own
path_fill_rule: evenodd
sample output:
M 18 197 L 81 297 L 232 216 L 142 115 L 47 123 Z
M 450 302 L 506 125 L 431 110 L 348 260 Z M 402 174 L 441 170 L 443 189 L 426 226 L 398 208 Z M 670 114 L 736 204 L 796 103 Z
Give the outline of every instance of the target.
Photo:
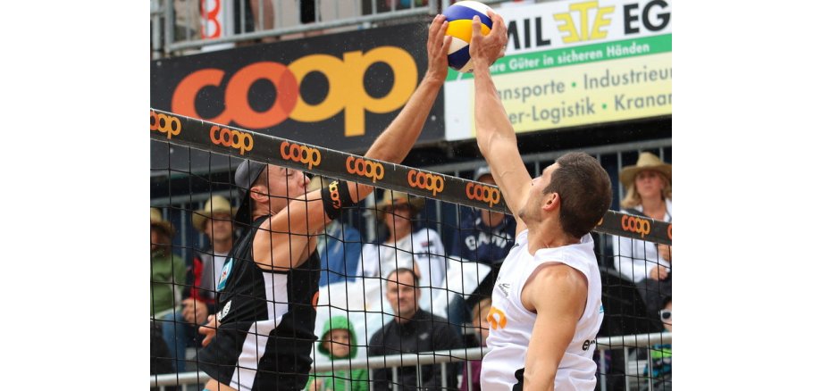
M 436 384 L 458 389 L 471 379 L 472 366 L 464 362 L 482 357 L 482 329 L 490 327 L 491 287 L 514 239 L 511 212 L 498 187 L 474 180 L 480 179 L 480 171 L 468 171 L 467 178 L 460 178 L 154 109 L 150 120 L 153 150 L 168 155 L 206 154 L 208 162 L 205 168 L 203 164 L 180 166 L 169 157 L 167 165 L 151 168 L 152 187 L 162 189 L 153 189 L 152 207 L 164 224 L 186 228 L 171 229 L 172 237 L 158 240 L 162 243 L 155 243 L 152 236 L 153 250 L 157 245 L 170 249 L 168 262 L 152 258 L 153 386 L 205 381 L 198 360 L 199 320 L 187 320 L 190 310 L 185 304 L 189 298 L 200 298 L 197 303 L 206 303 L 208 314 L 214 314 L 221 253 L 214 251 L 201 227 L 211 218 L 217 221 L 214 196 L 232 206 L 239 204 L 244 190 L 233 183 L 233 174 L 244 159 L 305 172 L 315 187 L 335 179 L 375 187 L 371 196 L 346 208 L 317 236 L 321 286 L 315 301 L 315 336 L 319 340 L 312 349 L 308 387 Z M 163 195 L 157 196 L 158 192 Z M 650 337 L 649 345 L 669 341 L 659 334 L 663 327 L 656 307 L 670 300 L 670 277 L 665 281 L 637 278 L 644 270 L 627 270 L 615 254 L 618 260 L 628 256 L 631 261 L 663 264 L 648 259 L 648 254 L 625 255 L 622 247 L 671 245 L 671 229 L 669 222 L 616 211 L 608 211 L 594 229 L 605 307 L 600 337 L 657 333 L 659 338 Z M 433 315 L 423 321 L 414 349 L 398 349 L 385 340 L 396 312 L 404 311 L 398 297 L 407 284 L 395 272 L 404 269 L 414 272 L 419 293 L 413 297 L 419 309 Z M 198 305 L 202 312 L 203 304 Z M 331 360 L 333 344 L 323 340 L 331 340 L 329 330 L 343 324 L 349 334 L 348 351 Z M 423 336 L 429 333 L 435 335 Z M 642 368 L 632 372 L 626 366 L 642 362 L 642 349 L 617 352 L 608 347 L 598 346 L 595 356 L 603 386 L 622 389 L 652 380 L 652 366 L 648 375 Z M 432 356 L 432 351 L 447 353 Z M 652 362 L 650 349 L 646 355 L 646 362 Z M 421 361 L 421 357 L 431 360 Z M 341 367 L 348 371 L 340 374 Z M 187 377 L 195 380 L 181 380 Z M 641 381 L 629 381 L 632 377 Z M 169 381 L 172 378 L 176 382 Z

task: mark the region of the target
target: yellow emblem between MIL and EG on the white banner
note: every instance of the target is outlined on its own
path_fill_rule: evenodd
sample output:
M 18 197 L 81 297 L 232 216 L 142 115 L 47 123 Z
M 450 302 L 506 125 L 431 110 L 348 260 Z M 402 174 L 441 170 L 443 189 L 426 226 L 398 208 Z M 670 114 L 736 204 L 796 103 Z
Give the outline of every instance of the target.
M 608 31 L 603 28 L 611 24 L 611 20 L 606 16 L 614 13 L 615 8 L 613 5 L 600 7 L 599 1 L 568 4 L 568 12 L 554 14 L 557 29 L 560 33 L 565 33 L 562 42 L 571 44 L 605 39 L 608 37 Z M 590 16 L 591 13 L 593 18 Z M 579 24 L 575 23 L 575 20 L 580 21 Z

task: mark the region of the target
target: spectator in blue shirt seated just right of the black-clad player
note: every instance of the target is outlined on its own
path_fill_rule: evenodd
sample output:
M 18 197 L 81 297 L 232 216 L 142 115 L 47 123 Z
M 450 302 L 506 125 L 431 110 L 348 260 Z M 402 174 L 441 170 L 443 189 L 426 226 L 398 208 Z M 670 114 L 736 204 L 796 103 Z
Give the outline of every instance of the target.
M 317 175 L 308 184 L 308 191 L 320 187 L 321 179 Z M 356 265 L 359 263 L 362 251 L 362 242 L 359 231 L 343 223 L 341 219 L 333 220 L 325 227 L 324 235 L 317 237 L 317 254 L 320 254 L 320 287 L 335 282 L 354 280 Z

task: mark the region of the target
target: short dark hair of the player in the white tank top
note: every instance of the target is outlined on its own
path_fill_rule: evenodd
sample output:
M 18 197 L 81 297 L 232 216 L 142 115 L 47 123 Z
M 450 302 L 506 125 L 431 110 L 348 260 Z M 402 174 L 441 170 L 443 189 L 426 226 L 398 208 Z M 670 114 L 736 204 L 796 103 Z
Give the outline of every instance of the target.
M 569 235 L 583 237 L 608 212 L 611 179 L 590 154 L 564 154 L 557 159 L 557 165 L 542 194 L 559 194 L 559 224 Z

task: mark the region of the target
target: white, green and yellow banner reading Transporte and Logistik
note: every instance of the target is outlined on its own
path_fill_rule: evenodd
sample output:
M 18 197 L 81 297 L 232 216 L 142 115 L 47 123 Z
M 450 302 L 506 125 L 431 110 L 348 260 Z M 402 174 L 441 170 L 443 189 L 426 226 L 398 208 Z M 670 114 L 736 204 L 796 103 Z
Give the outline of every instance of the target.
M 491 68 L 516 132 L 671 115 L 670 0 L 556 1 L 497 10 L 506 56 Z M 446 138 L 473 138 L 474 79 L 449 71 Z

